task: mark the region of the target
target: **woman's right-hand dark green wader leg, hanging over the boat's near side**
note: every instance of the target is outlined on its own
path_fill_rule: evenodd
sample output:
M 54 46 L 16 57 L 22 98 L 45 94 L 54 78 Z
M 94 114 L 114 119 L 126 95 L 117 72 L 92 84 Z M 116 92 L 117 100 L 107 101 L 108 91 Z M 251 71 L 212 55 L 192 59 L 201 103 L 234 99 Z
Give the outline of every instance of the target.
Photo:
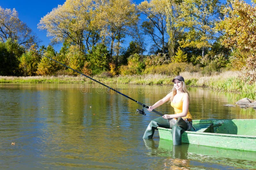
M 181 145 L 181 134 L 188 129 L 188 124 L 181 117 L 178 118 L 176 124 L 172 126 L 173 145 Z

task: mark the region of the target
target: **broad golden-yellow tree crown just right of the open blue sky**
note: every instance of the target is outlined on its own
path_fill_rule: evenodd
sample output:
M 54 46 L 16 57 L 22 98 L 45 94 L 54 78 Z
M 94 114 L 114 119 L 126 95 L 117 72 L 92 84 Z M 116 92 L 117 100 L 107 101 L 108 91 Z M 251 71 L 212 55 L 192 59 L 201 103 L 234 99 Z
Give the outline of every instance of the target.
M 99 41 L 99 31 L 91 26 L 92 0 L 67 0 L 54 8 L 38 24 L 41 30 L 47 30 L 52 42 L 68 42 L 84 51 Z M 85 50 L 86 51 L 86 50 Z

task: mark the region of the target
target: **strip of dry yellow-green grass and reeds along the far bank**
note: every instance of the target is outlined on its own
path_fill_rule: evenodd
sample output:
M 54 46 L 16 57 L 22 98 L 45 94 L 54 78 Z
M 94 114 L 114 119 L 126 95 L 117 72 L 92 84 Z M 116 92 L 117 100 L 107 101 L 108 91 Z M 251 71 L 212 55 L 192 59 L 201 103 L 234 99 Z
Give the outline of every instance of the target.
M 204 87 L 217 91 L 239 93 L 242 97 L 256 100 L 256 83 L 251 85 L 244 83 L 239 78 L 238 71 L 226 71 L 211 76 L 204 76 L 200 73 L 181 72 L 188 86 Z M 169 85 L 172 84 L 174 76 L 162 74 L 146 75 L 119 75 L 114 77 L 93 76 L 92 78 L 103 84 L 137 84 L 137 85 Z M 85 76 L 0 76 L 0 83 L 67 83 L 84 84 L 97 83 Z

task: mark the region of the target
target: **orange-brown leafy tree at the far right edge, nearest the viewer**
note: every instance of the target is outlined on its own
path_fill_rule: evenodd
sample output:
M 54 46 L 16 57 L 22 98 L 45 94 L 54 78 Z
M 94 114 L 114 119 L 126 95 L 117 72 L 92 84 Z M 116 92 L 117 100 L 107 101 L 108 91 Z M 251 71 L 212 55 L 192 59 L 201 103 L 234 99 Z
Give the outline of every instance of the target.
M 256 7 L 243 0 L 233 0 L 223 11 L 225 18 L 218 25 L 224 30 L 222 44 L 229 47 L 233 53 L 236 49 L 247 58 L 243 67 L 242 78 L 249 83 L 256 81 Z M 234 56 L 239 58 L 239 55 Z M 239 59 L 238 59 L 239 60 Z M 243 65 L 241 65 L 243 66 Z

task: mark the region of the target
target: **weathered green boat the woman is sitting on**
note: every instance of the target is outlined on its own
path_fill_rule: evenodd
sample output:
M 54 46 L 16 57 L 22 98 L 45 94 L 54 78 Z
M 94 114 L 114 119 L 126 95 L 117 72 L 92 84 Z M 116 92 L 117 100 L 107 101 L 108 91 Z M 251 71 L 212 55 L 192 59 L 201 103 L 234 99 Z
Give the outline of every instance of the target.
M 256 152 L 256 119 L 193 120 L 181 135 L 183 143 Z M 157 127 L 161 139 L 172 140 L 171 129 Z

